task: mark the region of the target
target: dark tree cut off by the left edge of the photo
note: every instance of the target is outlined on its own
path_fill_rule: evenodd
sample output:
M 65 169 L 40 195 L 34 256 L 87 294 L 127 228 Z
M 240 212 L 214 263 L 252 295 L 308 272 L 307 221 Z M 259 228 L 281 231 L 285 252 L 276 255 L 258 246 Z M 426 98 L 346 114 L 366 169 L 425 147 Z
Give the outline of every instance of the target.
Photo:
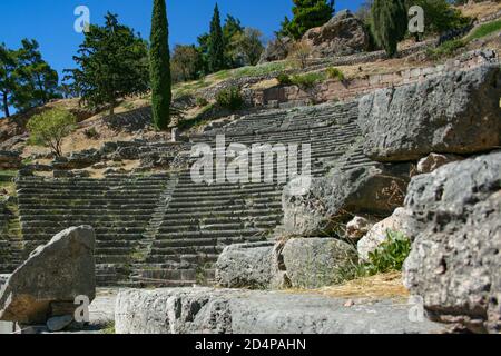
M 0 44 L 0 110 L 6 118 L 10 116 L 9 106 L 16 90 L 17 52 L 4 43 Z

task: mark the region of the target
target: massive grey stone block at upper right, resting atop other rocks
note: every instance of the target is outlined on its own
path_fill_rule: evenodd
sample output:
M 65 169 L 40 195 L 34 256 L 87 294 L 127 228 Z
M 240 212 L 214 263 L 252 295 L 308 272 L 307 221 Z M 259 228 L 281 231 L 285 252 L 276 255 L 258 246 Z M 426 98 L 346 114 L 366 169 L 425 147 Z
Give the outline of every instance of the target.
M 360 100 L 364 151 L 374 160 L 404 161 L 499 147 L 500 97 L 499 65 L 377 90 Z

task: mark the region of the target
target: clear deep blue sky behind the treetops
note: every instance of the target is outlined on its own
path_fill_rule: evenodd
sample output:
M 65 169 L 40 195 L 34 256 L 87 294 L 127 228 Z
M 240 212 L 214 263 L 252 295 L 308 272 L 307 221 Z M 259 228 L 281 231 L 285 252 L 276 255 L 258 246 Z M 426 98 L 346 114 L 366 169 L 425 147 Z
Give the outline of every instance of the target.
M 170 44 L 195 43 L 208 30 L 216 0 L 167 0 Z M 336 10 L 355 10 L 362 0 L 337 0 Z M 149 37 L 153 0 L 1 0 L 0 42 L 18 48 L 21 39 L 40 43 L 43 58 L 59 72 L 72 68 L 72 56 L 82 41 L 73 31 L 77 6 L 90 9 L 91 23 L 102 23 L 106 11 L 119 16 L 122 23 Z M 291 14 L 292 0 L 219 0 L 226 13 L 240 19 L 244 26 L 259 29 L 265 39 L 279 28 L 284 16 Z

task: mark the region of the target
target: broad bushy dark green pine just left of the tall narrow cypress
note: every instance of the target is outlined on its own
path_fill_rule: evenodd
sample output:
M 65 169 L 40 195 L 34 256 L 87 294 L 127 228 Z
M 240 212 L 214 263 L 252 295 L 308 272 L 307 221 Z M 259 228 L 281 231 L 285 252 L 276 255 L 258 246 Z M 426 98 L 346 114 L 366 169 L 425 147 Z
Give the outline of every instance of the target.
M 79 68 L 66 70 L 65 79 L 89 107 L 107 106 L 112 115 L 118 99 L 149 89 L 147 43 L 116 14 L 108 12 L 104 27 L 89 27 L 73 59 Z

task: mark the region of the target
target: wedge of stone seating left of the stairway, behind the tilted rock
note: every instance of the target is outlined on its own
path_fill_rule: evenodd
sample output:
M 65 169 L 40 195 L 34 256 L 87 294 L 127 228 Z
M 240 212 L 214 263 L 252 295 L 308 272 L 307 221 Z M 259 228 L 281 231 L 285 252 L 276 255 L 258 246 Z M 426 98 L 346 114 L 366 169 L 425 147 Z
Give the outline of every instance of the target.
M 124 284 L 168 180 L 167 175 L 23 177 L 18 181 L 18 199 L 24 250 L 29 254 L 68 227 L 90 225 L 97 237 L 98 284 Z

